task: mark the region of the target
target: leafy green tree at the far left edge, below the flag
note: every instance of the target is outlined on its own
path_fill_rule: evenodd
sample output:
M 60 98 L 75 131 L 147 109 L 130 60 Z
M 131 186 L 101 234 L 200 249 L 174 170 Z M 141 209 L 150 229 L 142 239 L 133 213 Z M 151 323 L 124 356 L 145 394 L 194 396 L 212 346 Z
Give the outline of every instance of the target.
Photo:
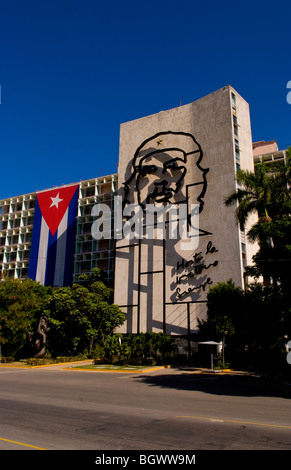
M 30 279 L 5 278 L 0 282 L 0 342 L 3 344 L 3 354 L 17 356 L 25 350 L 28 332 L 34 331 L 38 319 L 48 313 L 47 296 L 48 289 Z

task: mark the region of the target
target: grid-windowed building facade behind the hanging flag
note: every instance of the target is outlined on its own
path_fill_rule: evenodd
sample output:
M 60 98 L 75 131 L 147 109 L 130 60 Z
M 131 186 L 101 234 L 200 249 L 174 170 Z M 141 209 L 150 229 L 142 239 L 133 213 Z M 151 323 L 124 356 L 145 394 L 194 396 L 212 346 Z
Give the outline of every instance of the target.
M 71 281 L 100 268 L 112 283 L 114 271 L 114 240 L 95 240 L 91 235 L 94 204 L 111 207 L 117 190 L 117 174 L 78 183 L 78 202 L 71 260 Z M 0 272 L 2 276 L 24 279 L 29 274 L 36 201 L 38 194 L 61 191 L 70 185 L 32 192 L 0 200 Z M 62 282 L 55 285 L 62 285 Z

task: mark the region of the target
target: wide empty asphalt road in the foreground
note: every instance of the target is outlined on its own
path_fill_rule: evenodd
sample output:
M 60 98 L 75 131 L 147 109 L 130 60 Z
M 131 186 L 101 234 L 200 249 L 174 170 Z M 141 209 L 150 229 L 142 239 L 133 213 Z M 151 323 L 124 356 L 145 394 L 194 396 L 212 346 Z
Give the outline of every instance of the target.
M 291 393 L 246 375 L 0 368 L 1 450 L 291 449 Z

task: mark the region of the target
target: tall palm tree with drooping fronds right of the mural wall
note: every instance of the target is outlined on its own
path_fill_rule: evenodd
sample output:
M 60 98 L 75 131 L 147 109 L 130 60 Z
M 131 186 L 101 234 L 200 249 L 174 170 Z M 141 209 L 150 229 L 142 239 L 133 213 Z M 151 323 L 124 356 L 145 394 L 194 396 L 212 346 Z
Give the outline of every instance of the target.
M 236 179 L 239 188 L 225 199 L 226 206 L 237 204 L 235 215 L 241 230 L 251 213 L 258 216 L 247 236 L 251 242 L 259 242 L 260 250 L 247 272 L 262 274 L 265 282 L 272 278 L 274 285 L 278 279 L 281 285 L 290 284 L 291 149 L 286 163 L 262 162 L 254 172 L 239 170 Z

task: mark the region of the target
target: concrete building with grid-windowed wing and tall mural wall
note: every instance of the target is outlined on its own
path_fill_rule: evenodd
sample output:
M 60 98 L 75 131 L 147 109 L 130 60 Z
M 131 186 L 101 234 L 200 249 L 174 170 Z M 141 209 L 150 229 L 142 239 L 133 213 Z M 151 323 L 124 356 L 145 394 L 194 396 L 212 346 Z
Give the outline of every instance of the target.
M 195 332 L 198 318 L 206 314 L 210 286 L 232 278 L 244 287 L 244 267 L 257 250 L 245 233 L 255 217 L 241 232 L 235 207 L 227 208 L 224 199 L 237 188 L 236 171 L 252 171 L 262 158 L 280 161 L 286 152 L 278 150 L 276 141 L 252 143 L 249 105 L 231 86 L 121 124 L 118 174 L 78 183 L 72 282 L 94 267 L 106 273 L 114 285 L 114 301 L 126 314 L 122 333 Z M 28 274 L 38 195 L 0 200 L 2 275 L 23 279 Z M 92 208 L 106 204 L 116 209 L 115 196 L 121 197 L 123 211 L 131 204 L 141 208 L 139 238 L 92 236 Z M 146 206 L 151 203 L 175 207 L 174 223 L 186 217 L 188 230 L 196 210 L 199 218 L 190 238 L 169 236 L 173 219 L 167 212 L 163 237 L 154 219 L 153 238 L 145 238 Z M 131 216 L 123 212 L 123 224 Z

